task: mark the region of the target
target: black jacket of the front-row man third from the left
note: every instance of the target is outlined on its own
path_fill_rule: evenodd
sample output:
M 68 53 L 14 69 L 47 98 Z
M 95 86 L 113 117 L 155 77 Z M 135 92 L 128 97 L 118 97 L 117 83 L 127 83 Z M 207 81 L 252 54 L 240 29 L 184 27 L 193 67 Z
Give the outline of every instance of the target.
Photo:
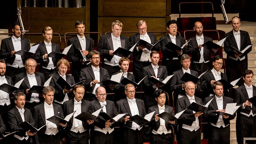
M 82 99 L 82 104 L 81 104 L 81 112 L 89 112 L 92 113 L 92 104 L 88 100 Z M 63 104 L 63 110 L 64 110 L 64 115 L 67 116 L 70 113 L 74 112 L 74 105 L 75 105 L 75 100 L 68 100 L 65 101 Z M 89 130 L 89 124 L 87 122 L 82 121 L 84 129 Z M 67 128 L 65 128 L 66 131 L 70 131 L 73 125 L 73 117 L 71 120 L 68 122 Z

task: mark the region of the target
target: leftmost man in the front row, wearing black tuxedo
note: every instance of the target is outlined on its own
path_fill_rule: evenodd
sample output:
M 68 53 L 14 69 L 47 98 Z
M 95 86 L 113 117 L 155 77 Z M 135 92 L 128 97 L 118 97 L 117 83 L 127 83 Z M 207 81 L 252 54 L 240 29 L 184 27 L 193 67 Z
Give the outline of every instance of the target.
M 30 130 L 26 131 L 20 127 L 20 124 L 26 121 L 35 127 L 36 121 L 33 119 L 31 111 L 28 108 L 24 108 L 25 94 L 23 92 L 16 92 L 14 99 L 16 106 L 8 112 L 8 123 L 11 127 L 11 132 L 18 132 L 14 134 L 15 138 L 9 140 L 12 144 L 31 144 L 29 136 L 34 136 L 36 132 L 32 133 Z

